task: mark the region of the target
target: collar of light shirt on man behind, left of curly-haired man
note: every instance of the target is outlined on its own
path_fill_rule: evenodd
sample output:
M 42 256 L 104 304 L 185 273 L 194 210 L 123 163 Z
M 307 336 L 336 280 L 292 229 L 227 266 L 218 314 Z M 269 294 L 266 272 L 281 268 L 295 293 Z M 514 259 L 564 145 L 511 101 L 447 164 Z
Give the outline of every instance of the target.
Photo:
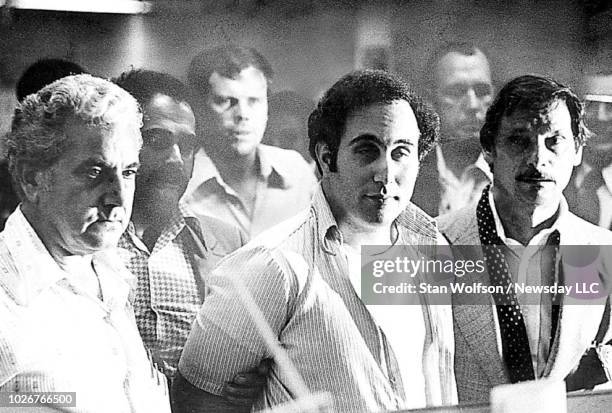
M 267 145 L 260 144 L 256 148 L 257 162 L 259 162 L 259 177 L 270 186 L 288 189 L 292 186 L 289 176 L 291 176 L 291 166 L 279 162 L 272 155 L 273 149 Z M 223 181 L 219 170 L 213 160 L 200 148 L 194 157 L 194 168 L 192 177 L 185 193 L 192 193 L 201 185 L 216 181 L 225 192 L 235 195 L 235 191 Z

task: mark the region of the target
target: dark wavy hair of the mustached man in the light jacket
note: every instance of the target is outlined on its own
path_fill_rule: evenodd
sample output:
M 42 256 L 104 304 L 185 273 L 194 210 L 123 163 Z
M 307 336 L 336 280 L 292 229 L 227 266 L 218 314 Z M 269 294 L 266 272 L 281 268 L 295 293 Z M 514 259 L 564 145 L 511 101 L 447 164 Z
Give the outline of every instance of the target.
M 512 79 L 499 91 L 480 129 L 480 144 L 489 152 L 494 148 L 495 137 L 504 116 L 525 111 L 535 118 L 559 100 L 565 102 L 569 110 L 576 148 L 584 145 L 590 133 L 584 124 L 584 110 L 578 96 L 569 87 L 553 79 L 535 75 Z

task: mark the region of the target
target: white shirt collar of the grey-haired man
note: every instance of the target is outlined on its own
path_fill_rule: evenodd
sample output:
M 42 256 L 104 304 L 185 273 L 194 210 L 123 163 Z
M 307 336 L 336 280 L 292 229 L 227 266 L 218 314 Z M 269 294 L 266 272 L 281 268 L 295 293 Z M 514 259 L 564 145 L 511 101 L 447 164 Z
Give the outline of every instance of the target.
M 17 271 L 13 276 L 0 278 L 0 283 L 8 287 L 18 303 L 27 305 L 43 291 L 60 282 L 68 282 L 73 277 L 53 259 L 23 215 L 21 207 L 7 219 L 2 238 Z M 116 264 L 119 262 L 113 250 L 92 255 L 92 265 L 98 275 L 105 303 L 127 300 L 129 273 L 125 267 Z

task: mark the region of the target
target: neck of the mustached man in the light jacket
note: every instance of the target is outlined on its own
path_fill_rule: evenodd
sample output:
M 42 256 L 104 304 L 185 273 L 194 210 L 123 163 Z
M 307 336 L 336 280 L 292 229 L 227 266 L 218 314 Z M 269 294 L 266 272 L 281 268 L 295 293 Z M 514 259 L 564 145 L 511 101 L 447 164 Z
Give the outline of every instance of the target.
M 540 231 L 552 227 L 558 216 L 559 204 L 554 206 L 521 203 L 508 200 L 494 190 L 495 209 L 508 238 L 523 245 Z

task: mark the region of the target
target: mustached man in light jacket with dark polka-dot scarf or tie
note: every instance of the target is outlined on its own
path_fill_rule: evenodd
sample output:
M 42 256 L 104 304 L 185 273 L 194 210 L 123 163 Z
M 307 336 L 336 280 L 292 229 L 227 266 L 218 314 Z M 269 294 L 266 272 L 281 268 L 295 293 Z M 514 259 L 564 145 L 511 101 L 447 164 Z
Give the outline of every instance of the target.
M 609 292 L 610 251 L 599 246 L 612 245 L 612 233 L 572 214 L 562 194 L 588 136 L 583 116 L 577 96 L 554 80 L 510 81 L 480 131 L 493 184 L 474 204 L 438 218 L 451 244 L 482 246 L 470 251 L 484 258 L 486 271 L 459 282 L 506 291 L 486 295 L 484 303 L 453 294 L 460 402 L 486 402 L 491 388 L 504 383 L 551 377 L 576 390 L 611 377 L 606 295 L 566 305 L 571 297 L 506 289 L 583 280 L 586 273 L 569 266 L 574 261 L 560 246 L 590 245 L 601 248 L 603 267 L 594 276 Z

